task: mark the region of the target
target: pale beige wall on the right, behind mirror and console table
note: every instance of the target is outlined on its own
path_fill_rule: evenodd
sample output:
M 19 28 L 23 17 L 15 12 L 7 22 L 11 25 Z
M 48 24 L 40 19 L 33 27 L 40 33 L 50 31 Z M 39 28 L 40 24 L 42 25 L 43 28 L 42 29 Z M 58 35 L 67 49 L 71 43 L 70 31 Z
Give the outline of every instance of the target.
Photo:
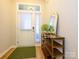
M 50 12 L 59 14 L 58 34 L 65 37 L 65 59 L 77 59 L 77 0 L 49 0 L 46 6 L 47 18 Z

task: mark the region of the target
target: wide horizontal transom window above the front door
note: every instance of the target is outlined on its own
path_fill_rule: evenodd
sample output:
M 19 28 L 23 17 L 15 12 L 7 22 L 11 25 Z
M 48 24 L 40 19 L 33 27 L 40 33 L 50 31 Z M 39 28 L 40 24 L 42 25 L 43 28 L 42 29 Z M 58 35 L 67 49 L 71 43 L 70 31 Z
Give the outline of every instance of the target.
M 32 12 L 40 12 L 40 5 L 31 5 L 31 4 L 18 4 L 19 11 L 32 11 Z

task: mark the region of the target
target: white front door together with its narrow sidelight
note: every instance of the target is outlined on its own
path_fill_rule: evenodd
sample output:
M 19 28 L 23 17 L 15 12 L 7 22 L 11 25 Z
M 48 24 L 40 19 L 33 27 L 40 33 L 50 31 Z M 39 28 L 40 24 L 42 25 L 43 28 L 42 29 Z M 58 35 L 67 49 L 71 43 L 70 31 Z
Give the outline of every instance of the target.
M 23 10 L 22 4 L 18 4 L 16 21 L 16 45 L 35 46 L 41 44 L 40 19 L 41 12 Z M 40 9 L 39 5 L 36 6 Z M 32 9 L 32 8 L 31 8 Z

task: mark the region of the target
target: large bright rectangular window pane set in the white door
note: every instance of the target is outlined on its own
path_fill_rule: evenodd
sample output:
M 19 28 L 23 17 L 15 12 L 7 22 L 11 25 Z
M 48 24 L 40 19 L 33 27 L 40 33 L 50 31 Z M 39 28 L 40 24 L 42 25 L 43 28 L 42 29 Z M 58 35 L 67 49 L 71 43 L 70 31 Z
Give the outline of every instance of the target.
M 20 12 L 20 26 L 21 30 L 32 29 L 32 14 L 26 12 Z

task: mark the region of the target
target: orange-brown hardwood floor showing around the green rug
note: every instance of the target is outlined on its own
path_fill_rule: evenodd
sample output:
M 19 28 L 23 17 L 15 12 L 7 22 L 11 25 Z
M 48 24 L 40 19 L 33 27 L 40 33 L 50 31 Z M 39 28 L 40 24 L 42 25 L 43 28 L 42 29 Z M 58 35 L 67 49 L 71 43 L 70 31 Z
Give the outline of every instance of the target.
M 6 55 L 4 55 L 2 58 L 0 59 L 7 59 L 8 56 L 14 51 L 15 49 L 12 48 L 8 53 L 6 53 Z M 24 58 L 24 59 L 45 59 L 43 52 L 41 50 L 40 46 L 36 46 L 36 57 L 35 58 Z

